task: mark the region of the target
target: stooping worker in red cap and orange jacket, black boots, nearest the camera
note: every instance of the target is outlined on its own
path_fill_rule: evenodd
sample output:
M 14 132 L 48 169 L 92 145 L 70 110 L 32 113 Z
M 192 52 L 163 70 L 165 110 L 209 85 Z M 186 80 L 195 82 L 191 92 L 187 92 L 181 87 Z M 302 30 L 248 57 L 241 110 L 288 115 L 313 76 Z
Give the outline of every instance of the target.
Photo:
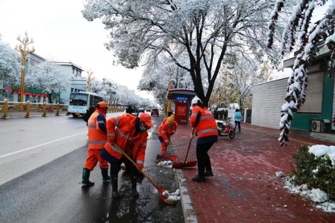
M 151 126 L 151 117 L 146 113 L 142 113 L 140 117 L 127 113 L 110 118 L 107 121 L 107 143 L 100 151 L 100 154 L 110 163 L 113 198 L 119 198 L 117 183 L 121 163 L 126 165 L 127 171 L 131 175 L 132 197 L 139 197 L 139 193 L 136 190 L 137 169 L 113 144 L 115 143 L 126 152 L 139 168 L 143 168 L 148 137 L 146 131 L 150 129 Z

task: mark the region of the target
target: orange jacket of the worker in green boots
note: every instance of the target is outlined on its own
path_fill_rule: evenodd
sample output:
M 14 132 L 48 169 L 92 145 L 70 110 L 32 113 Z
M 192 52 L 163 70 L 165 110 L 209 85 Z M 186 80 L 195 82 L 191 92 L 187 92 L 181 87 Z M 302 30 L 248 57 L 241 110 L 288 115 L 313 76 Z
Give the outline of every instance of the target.
M 102 113 L 100 113 L 102 114 Z M 104 117 L 106 117 L 104 114 L 102 114 Z M 88 128 L 89 128 L 89 148 L 90 149 L 102 149 L 107 141 L 107 134 L 102 132 L 99 129 L 99 126 L 97 124 L 97 117 L 99 116 L 99 112 L 95 111 L 89 121 L 87 122 Z

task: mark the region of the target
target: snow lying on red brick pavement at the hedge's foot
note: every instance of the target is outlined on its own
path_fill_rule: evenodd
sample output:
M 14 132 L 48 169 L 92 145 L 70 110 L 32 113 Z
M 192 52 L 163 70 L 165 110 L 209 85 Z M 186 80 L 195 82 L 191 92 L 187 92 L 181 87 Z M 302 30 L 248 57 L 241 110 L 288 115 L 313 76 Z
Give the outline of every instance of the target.
M 286 178 L 284 188 L 287 188 L 291 193 L 300 194 L 301 196 L 311 199 L 315 203 L 320 203 L 316 206 L 316 208 L 322 209 L 328 213 L 335 213 L 335 202 L 329 200 L 327 193 L 319 188 L 313 188 L 310 190 L 307 184 L 296 186 L 292 183 L 291 179 L 292 178 Z

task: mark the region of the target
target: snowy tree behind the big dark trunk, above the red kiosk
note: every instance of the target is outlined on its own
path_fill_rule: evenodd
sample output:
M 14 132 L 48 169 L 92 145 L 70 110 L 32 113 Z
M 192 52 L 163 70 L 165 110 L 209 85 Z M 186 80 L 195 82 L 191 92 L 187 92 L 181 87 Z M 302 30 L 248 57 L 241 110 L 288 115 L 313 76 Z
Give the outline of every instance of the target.
M 169 83 L 172 89 L 193 89 L 189 72 L 177 66 L 169 57 L 159 55 L 155 63 L 145 67 L 138 89 L 151 91 L 162 105 L 166 100 Z

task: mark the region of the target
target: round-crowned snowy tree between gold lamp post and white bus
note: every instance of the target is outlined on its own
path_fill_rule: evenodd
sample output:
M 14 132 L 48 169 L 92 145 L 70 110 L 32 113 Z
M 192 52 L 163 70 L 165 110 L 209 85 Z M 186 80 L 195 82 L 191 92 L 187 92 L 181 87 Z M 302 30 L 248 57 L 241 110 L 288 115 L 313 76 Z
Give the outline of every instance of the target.
M 43 89 L 48 94 L 49 103 L 52 102 L 52 93 L 67 89 L 70 84 L 61 66 L 51 61 L 32 66 L 25 83 L 27 87 Z

